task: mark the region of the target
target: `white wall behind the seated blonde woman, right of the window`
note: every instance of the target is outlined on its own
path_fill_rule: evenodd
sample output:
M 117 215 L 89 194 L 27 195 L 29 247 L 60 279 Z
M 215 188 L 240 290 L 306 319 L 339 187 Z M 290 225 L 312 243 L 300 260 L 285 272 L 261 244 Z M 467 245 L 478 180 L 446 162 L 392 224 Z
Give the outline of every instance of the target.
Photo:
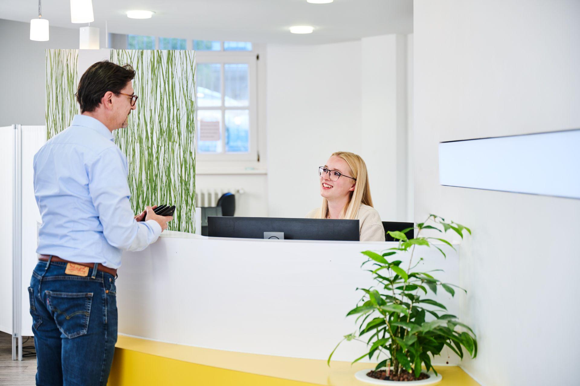
M 383 220 L 407 219 L 407 39 L 268 46 L 269 215 L 320 206 L 317 167 L 338 150 L 367 163 Z

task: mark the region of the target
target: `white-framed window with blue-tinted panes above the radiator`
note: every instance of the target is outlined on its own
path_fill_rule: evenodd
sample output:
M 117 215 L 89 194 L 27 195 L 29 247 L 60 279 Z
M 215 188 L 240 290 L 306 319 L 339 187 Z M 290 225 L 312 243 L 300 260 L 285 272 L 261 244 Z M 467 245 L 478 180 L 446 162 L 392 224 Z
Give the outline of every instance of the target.
M 256 160 L 256 55 L 198 50 L 195 56 L 198 158 Z

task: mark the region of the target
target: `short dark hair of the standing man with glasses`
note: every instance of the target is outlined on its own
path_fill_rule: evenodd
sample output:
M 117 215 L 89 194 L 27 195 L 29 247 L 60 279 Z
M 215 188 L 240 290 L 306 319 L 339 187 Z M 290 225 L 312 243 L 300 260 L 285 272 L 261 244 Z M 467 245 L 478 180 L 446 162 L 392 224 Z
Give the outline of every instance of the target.
M 120 66 L 108 60 L 93 64 L 78 82 L 77 101 L 81 112 L 95 111 L 107 91 L 119 95 L 133 78 L 135 70 L 129 64 Z

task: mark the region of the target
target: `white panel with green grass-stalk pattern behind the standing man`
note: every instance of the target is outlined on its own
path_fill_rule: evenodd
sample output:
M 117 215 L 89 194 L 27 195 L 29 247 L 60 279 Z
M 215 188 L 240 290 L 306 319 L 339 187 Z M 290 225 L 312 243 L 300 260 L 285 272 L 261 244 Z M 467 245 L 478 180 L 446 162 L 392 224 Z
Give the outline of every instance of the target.
M 78 54 L 78 50 L 46 52 L 48 138 L 67 128 L 78 113 L 74 100 Z M 127 128 L 113 131 L 115 143 L 127 156 L 133 211 L 139 213 L 146 205 L 176 205 L 169 229 L 194 232 L 195 53 L 111 50 L 110 61 L 131 64 L 136 71 L 137 109 Z

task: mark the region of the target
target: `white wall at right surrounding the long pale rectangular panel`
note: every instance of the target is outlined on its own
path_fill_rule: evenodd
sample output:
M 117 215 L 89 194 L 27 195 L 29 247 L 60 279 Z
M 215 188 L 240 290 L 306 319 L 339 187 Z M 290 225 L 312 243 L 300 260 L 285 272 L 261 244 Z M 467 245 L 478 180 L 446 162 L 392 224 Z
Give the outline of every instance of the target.
M 462 317 L 480 351 L 463 366 L 485 386 L 578 384 L 580 201 L 440 186 L 437 144 L 580 127 L 580 2 L 416 0 L 414 12 L 415 220 L 474 232 Z

